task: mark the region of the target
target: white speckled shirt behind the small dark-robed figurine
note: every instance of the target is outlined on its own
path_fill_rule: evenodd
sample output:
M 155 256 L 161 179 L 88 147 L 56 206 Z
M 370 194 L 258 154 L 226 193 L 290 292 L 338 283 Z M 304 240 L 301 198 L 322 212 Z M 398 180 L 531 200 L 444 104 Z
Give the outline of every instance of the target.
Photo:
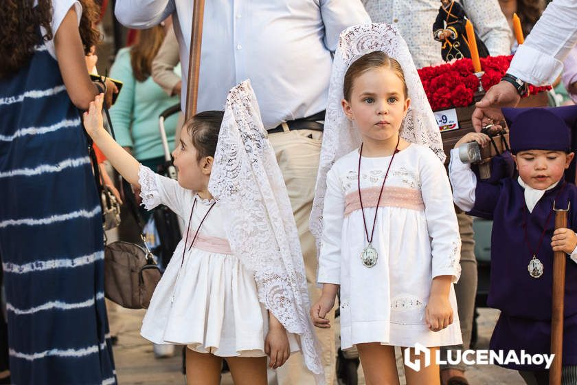
M 433 39 L 439 0 L 361 0 L 375 23 L 396 25 L 417 68 L 444 63 Z M 493 56 L 511 53 L 511 30 L 497 0 L 460 1 L 479 38 Z

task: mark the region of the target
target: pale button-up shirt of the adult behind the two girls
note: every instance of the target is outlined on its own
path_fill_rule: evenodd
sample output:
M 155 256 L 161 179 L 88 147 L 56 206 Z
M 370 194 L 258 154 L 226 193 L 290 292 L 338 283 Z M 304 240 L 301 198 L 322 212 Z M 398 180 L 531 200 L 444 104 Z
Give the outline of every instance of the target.
M 117 0 L 115 14 L 139 29 L 174 14 L 184 109 L 192 1 Z M 360 0 L 206 1 L 198 111 L 222 110 L 229 89 L 247 78 L 267 129 L 326 109 L 339 34 L 369 22 Z

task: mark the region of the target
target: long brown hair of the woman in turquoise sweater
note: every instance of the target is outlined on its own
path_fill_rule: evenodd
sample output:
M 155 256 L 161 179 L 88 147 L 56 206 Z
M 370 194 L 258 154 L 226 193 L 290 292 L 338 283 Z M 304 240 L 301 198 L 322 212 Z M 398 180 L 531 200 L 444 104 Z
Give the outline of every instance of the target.
M 139 82 L 144 82 L 152 74 L 152 60 L 160 49 L 165 35 L 162 25 L 138 31 L 137 41 L 131 47 L 131 65 L 134 77 Z

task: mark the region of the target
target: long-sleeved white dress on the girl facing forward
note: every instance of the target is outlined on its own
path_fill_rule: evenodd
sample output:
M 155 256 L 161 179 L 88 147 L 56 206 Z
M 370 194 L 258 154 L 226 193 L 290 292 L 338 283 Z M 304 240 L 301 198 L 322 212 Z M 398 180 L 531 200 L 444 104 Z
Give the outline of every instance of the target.
M 460 276 L 460 237 L 449 179 L 439 158 L 426 146 L 410 144 L 397 153 L 381 203 L 378 193 L 391 157 L 363 157 L 361 192 L 374 267 L 365 267 L 367 245 L 359 202 L 359 151 L 341 157 L 327 174 L 319 283 L 341 285 L 341 347 L 363 342 L 414 347 L 462 342 L 455 291 L 449 300 L 453 324 L 433 332 L 425 307 L 435 276 Z

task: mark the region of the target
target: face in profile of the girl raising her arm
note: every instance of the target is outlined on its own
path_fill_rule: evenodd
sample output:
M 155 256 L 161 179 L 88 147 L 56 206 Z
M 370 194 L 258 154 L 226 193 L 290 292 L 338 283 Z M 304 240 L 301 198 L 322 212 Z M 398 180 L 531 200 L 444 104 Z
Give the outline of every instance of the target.
M 180 140 L 177 148 L 172 151 L 172 157 L 174 157 L 174 166 L 179 172 L 179 184 L 183 188 L 193 191 L 207 189 L 213 158 L 202 157 L 199 160 L 198 151 L 192 144 L 185 127 L 181 129 Z

